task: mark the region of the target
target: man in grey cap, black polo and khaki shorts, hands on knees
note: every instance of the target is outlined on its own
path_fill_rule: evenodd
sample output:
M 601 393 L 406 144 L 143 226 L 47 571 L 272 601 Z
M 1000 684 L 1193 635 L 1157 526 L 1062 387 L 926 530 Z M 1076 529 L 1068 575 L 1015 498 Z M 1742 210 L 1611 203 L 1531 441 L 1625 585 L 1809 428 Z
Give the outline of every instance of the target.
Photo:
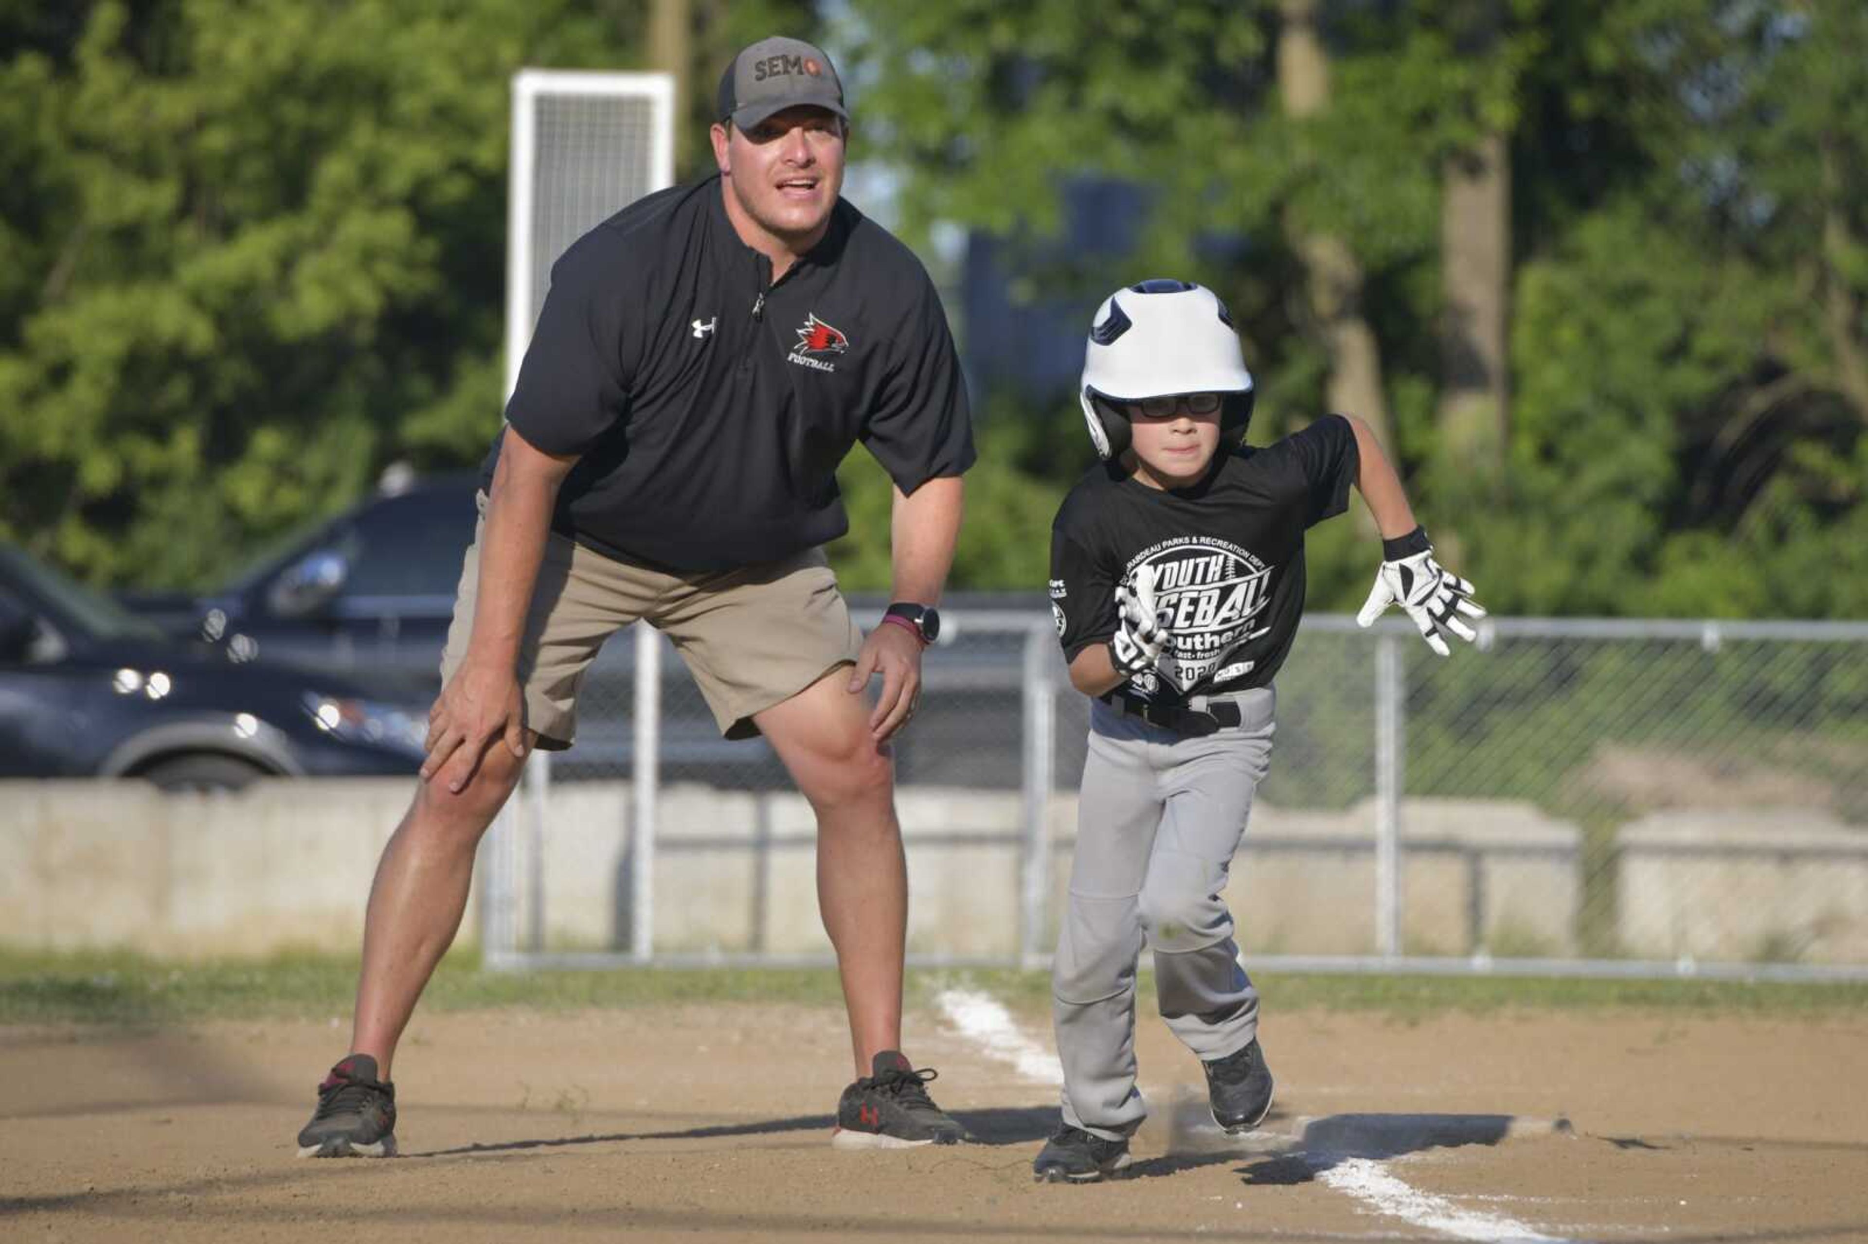
M 590 659 L 637 618 L 816 813 L 857 1074 L 835 1143 L 964 1138 L 899 1052 L 908 878 L 887 740 L 938 629 L 973 461 L 966 389 L 921 263 L 839 196 L 829 58 L 747 47 L 717 116 L 715 176 L 626 207 L 553 265 L 488 456 L 422 781 L 370 891 L 351 1053 L 301 1156 L 394 1152 L 390 1061 L 460 926 L 474 846 L 525 755 L 572 743 Z M 818 547 L 848 529 L 835 469 L 856 441 L 895 480 L 897 603 L 867 639 Z

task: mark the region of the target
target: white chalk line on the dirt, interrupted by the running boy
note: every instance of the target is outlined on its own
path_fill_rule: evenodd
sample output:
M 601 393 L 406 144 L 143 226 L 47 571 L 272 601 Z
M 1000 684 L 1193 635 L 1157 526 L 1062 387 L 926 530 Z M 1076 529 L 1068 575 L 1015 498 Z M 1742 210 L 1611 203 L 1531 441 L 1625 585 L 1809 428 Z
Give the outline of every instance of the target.
M 990 994 L 975 990 L 945 990 L 936 999 L 947 1022 L 960 1029 L 983 1053 L 1007 1063 L 1026 1080 L 1061 1085 L 1063 1065 L 1035 1040 L 1026 1037 L 1012 1014 Z M 1493 1240 L 1498 1244 L 1567 1244 L 1562 1237 L 1543 1235 L 1515 1218 L 1479 1214 L 1461 1209 L 1446 1197 L 1436 1197 L 1395 1179 L 1386 1166 L 1371 1158 L 1345 1158 L 1321 1169 L 1317 1179 L 1369 1209 L 1399 1218 L 1427 1231 L 1438 1231 L 1455 1240 Z

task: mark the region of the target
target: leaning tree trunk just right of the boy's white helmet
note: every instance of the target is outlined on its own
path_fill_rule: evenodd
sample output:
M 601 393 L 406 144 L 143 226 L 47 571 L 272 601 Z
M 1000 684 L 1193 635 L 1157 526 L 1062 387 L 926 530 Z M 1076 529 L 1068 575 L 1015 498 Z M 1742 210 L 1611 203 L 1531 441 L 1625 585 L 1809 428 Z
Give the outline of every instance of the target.
M 1319 0 L 1283 0 L 1278 92 L 1285 112 L 1295 120 L 1317 116 L 1330 106 L 1330 60 L 1317 37 L 1317 7 Z M 1326 402 L 1332 411 L 1360 415 L 1392 454 L 1382 357 L 1375 332 L 1362 316 L 1362 265 L 1341 237 L 1308 230 L 1295 213 L 1287 217 L 1285 228 L 1304 262 L 1309 312 L 1330 355 Z

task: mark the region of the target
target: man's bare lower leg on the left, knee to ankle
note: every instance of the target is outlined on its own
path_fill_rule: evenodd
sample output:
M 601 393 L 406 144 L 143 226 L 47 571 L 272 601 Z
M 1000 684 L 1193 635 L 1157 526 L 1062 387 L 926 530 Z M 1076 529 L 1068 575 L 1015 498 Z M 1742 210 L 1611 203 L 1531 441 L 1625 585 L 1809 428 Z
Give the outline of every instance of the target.
M 536 738 L 529 732 L 527 743 Z M 525 760 L 495 740 L 460 794 L 439 779 L 420 783 L 383 848 L 364 917 L 351 1029 L 351 1052 L 374 1057 L 383 1080 L 428 977 L 460 930 L 474 848 L 523 768 Z

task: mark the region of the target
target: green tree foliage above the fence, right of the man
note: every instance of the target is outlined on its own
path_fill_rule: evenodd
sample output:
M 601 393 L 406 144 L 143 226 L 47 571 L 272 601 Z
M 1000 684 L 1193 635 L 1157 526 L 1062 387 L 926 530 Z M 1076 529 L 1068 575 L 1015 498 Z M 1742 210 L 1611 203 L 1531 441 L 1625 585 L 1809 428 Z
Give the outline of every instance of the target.
M 1259 375 L 1253 439 L 1321 413 L 1326 381 L 1289 226 L 1341 237 L 1416 510 L 1491 607 L 1861 615 L 1861 6 L 1319 4 L 1330 106 L 1308 120 L 1280 103 L 1272 4 L 852 7 L 910 228 L 1018 243 L 1063 228 L 1082 174 L 1145 185 L 1130 252 L 1031 248 L 1020 278 L 1085 310 L 1139 273 L 1210 284 Z M 1517 263 L 1504 495 L 1436 467 L 1433 424 L 1438 168 L 1491 129 Z M 1360 601 L 1371 551 L 1343 527 L 1313 536 L 1313 605 Z

